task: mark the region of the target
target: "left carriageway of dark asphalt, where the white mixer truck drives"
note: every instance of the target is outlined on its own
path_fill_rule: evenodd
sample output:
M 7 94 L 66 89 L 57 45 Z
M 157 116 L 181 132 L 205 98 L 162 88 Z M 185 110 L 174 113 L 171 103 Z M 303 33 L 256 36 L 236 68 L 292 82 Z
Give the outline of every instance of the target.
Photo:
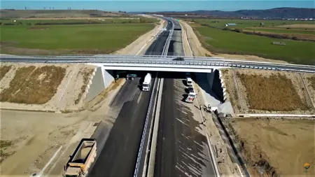
M 169 25 L 167 29 L 170 29 Z M 152 43 L 146 54 L 160 53 L 165 45 L 168 31 Z M 140 73 L 144 77 L 146 73 Z M 153 78 L 154 78 L 153 73 Z M 111 109 L 119 110 L 109 132 L 104 148 L 88 176 L 132 176 L 137 162 L 141 134 L 144 128 L 148 103 L 152 92 L 142 92 L 138 85 L 142 80 L 127 80 L 111 103 Z M 153 79 L 153 83 L 154 83 Z M 99 141 L 99 140 L 97 140 Z

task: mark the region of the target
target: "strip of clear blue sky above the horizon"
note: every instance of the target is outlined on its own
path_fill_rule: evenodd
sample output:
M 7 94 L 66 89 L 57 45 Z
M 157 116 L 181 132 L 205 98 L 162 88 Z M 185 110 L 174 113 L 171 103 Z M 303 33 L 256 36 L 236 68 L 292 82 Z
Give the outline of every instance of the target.
M 71 9 L 87 10 L 108 10 L 127 12 L 134 11 L 191 11 L 191 10 L 250 10 L 250 9 L 268 9 L 278 7 L 296 7 L 296 8 L 315 8 L 314 1 L 294 1 L 294 0 L 1 0 L 1 9 Z

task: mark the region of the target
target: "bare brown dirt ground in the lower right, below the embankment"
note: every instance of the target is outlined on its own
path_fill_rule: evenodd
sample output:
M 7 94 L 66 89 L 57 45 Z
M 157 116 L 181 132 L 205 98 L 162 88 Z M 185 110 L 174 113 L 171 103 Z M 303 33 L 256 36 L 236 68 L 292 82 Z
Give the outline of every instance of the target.
M 252 176 L 315 176 L 315 121 L 231 119 Z M 304 163 L 311 164 L 308 170 Z

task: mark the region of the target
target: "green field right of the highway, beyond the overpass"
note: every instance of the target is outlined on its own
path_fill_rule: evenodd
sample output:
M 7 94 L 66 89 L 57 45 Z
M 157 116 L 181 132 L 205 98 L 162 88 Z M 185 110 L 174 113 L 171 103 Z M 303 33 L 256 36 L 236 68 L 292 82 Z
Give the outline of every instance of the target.
M 314 42 L 248 35 L 197 24 L 193 27 L 203 36 L 201 41 L 204 46 L 213 52 L 257 55 L 296 64 L 315 64 Z M 273 45 L 274 41 L 284 42 L 286 45 Z

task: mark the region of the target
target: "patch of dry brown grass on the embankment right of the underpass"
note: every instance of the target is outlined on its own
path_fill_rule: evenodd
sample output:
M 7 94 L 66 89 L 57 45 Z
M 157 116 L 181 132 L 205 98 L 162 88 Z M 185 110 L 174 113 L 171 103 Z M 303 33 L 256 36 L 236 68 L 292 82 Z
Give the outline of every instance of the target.
M 280 74 L 269 77 L 237 72 L 246 87 L 249 108 L 262 111 L 307 110 L 291 80 Z

